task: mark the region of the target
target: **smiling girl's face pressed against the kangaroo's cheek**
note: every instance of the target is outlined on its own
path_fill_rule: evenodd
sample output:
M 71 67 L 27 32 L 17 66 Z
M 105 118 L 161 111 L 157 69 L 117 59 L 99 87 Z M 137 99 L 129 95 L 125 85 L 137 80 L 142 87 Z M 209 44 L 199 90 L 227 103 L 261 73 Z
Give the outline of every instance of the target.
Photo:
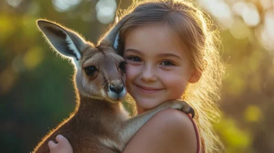
M 127 91 L 138 113 L 179 99 L 188 82 L 197 81 L 184 43 L 165 25 L 127 31 L 124 58 Z

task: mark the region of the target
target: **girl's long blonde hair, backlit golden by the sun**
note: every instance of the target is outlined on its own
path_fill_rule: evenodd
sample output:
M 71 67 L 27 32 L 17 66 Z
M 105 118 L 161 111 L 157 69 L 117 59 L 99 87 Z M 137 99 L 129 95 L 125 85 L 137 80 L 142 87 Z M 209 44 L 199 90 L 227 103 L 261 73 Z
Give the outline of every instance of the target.
M 197 83 L 188 84 L 182 98 L 195 109 L 204 152 L 220 152 L 221 141 L 214 133 L 212 122 L 220 116 L 216 101 L 220 99 L 224 67 L 218 51 L 219 34 L 210 16 L 192 1 L 175 0 L 134 1 L 128 10 L 123 10 L 122 16 L 125 23 L 120 31 L 120 55 L 123 55 L 125 33 L 134 27 L 161 23 L 182 38 L 195 74 L 201 76 Z

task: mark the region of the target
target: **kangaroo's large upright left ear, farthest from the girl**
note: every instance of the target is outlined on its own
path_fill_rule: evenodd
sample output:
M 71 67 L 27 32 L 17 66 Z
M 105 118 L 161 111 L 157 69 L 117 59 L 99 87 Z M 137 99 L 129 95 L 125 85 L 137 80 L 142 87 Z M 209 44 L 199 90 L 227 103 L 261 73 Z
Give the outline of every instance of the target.
M 73 57 L 76 61 L 81 59 L 81 51 L 86 44 L 86 40 L 79 36 L 79 34 L 48 20 L 37 20 L 37 25 L 42 33 L 44 33 L 49 44 L 58 53 L 66 57 Z

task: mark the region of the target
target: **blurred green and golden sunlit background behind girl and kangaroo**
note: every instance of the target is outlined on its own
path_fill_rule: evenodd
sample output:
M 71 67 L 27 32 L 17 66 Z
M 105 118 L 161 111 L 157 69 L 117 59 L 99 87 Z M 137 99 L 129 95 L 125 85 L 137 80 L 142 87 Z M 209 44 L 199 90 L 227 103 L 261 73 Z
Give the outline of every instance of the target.
M 274 0 L 197 2 L 219 27 L 227 62 L 214 126 L 225 152 L 274 152 Z M 0 152 L 32 151 L 75 108 L 73 66 L 35 21 L 55 20 L 96 42 L 118 8 L 115 0 L 0 0 Z

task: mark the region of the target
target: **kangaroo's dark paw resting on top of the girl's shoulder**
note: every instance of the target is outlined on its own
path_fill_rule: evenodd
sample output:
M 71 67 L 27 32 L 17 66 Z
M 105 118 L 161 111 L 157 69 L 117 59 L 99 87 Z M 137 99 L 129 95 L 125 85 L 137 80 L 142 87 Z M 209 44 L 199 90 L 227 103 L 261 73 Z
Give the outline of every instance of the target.
M 184 113 L 190 113 L 192 118 L 195 117 L 194 109 L 183 100 L 171 100 L 171 109 L 178 109 Z

